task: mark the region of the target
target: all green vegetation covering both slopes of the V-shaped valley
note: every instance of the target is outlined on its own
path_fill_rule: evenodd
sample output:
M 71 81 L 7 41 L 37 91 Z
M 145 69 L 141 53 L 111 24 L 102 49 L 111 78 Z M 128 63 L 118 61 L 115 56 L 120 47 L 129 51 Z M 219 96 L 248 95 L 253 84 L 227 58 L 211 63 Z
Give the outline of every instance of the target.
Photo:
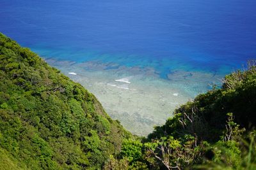
M 148 138 L 0 34 L 0 169 L 256 169 L 256 66 L 175 110 Z

